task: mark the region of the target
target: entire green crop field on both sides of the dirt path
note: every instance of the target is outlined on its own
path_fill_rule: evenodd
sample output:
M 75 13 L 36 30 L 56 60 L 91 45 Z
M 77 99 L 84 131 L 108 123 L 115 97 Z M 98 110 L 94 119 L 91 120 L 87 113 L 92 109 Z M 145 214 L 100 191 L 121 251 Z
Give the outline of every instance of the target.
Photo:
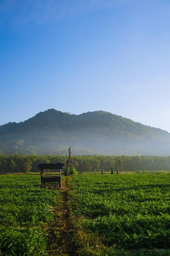
M 82 174 L 68 180 L 64 184 L 69 186 L 67 211 L 75 254 L 50 254 L 51 244 L 58 243 L 57 237 L 50 240 L 57 221 L 51 209 L 61 203 L 61 192 L 40 188 L 39 175 L 4 175 L 0 176 L 1 256 L 115 256 L 120 249 L 124 255 L 136 249 L 146 256 L 154 248 L 165 252 L 152 255 L 170 255 L 170 174 Z

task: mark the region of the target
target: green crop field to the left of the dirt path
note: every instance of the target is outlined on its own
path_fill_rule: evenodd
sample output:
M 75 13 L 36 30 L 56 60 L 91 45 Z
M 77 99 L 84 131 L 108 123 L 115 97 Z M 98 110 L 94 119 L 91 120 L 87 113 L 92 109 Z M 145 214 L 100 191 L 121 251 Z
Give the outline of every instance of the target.
M 0 255 L 46 255 L 60 193 L 40 188 L 40 175 L 0 177 Z

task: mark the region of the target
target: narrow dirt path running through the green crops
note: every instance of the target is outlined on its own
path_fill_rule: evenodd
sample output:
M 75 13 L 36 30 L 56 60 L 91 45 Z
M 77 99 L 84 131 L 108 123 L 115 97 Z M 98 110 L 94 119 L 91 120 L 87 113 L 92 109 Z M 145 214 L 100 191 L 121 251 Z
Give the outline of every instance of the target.
M 73 236 L 69 223 L 69 209 L 67 208 L 68 197 L 68 177 L 65 177 L 60 190 L 62 201 L 56 210 L 56 228 L 55 233 L 58 233 L 57 248 L 50 255 L 74 256 L 76 247 L 73 243 Z M 56 235 L 55 235 L 56 236 Z M 55 241 L 53 241 L 55 244 Z

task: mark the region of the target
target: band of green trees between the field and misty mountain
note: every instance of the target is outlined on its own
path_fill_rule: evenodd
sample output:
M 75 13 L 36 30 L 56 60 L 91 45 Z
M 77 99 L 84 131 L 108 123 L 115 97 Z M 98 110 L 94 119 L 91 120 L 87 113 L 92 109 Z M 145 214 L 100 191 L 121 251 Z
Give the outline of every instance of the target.
M 170 157 L 160 156 L 74 156 L 76 158 L 76 168 L 78 172 L 96 171 L 99 172 L 103 167 L 104 171 L 110 171 L 111 167 L 121 168 L 122 171 L 170 171 Z M 68 156 L 35 156 L 35 155 L 9 155 L 0 156 L 0 172 L 38 172 L 39 163 L 65 164 Z M 74 161 L 73 161 L 74 162 Z M 75 163 L 75 162 L 74 162 Z M 121 165 L 121 166 L 120 166 Z

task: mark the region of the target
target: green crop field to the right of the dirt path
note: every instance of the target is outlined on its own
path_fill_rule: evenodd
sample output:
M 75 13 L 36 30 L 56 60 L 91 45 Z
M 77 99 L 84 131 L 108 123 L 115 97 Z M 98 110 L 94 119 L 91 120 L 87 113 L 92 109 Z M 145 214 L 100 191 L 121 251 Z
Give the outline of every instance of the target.
M 80 255 L 100 255 L 92 253 L 101 248 L 104 255 L 115 255 L 113 248 L 169 249 L 170 174 L 77 175 L 70 185 Z

